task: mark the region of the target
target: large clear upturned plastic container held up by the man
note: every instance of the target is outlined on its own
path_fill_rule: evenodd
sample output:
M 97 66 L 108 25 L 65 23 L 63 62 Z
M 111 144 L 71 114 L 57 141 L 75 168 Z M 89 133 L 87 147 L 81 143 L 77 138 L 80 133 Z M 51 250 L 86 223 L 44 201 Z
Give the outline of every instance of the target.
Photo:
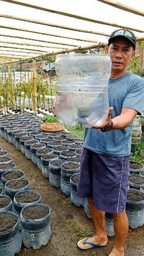
M 103 125 L 107 118 L 108 54 L 60 54 L 56 58 L 56 114 L 68 126 Z

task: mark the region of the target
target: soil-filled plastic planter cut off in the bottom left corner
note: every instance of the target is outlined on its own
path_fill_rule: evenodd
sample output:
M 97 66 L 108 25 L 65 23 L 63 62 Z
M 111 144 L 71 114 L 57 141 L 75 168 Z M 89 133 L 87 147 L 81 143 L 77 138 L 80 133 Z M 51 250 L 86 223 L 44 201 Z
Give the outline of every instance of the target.
M 14 256 L 21 250 L 20 219 L 10 211 L 0 211 L 0 255 Z

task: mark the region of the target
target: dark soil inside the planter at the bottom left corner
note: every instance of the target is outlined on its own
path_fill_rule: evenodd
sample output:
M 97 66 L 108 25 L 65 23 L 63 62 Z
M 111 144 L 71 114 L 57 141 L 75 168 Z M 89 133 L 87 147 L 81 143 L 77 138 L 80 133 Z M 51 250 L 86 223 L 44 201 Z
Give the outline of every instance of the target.
M 5 232 L 6 230 L 12 229 L 17 221 L 18 217 L 12 214 L 0 213 L 0 232 Z

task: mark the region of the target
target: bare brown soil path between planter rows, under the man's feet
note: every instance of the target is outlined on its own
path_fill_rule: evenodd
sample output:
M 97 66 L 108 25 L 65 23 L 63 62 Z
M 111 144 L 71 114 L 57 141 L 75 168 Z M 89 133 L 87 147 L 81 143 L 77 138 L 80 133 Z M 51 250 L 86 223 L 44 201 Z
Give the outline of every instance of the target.
M 27 249 L 22 246 L 16 256 L 106 256 L 112 250 L 114 237 L 109 237 L 106 247 L 93 249 L 91 251 L 79 251 L 77 241 L 87 233 L 95 233 L 93 222 L 88 219 L 83 207 L 76 207 L 70 203 L 70 197 L 60 192 L 44 178 L 38 167 L 27 159 L 21 152 L 0 137 L 0 145 L 7 150 L 13 158 L 17 168 L 26 174 L 30 181 L 31 189 L 41 194 L 43 203 L 48 204 L 51 209 L 51 240 L 46 246 L 38 250 Z M 128 238 L 125 244 L 124 256 L 144 256 L 143 249 L 144 226 L 137 229 L 129 229 Z

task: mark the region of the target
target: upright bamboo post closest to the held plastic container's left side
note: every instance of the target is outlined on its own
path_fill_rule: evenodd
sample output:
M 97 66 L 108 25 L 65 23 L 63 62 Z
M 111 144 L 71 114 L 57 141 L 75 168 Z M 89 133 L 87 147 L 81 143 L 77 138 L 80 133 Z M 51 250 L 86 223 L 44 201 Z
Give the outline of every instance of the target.
M 32 67 L 33 67 L 33 79 L 32 79 L 32 85 L 33 85 L 33 104 L 32 108 L 34 110 L 34 114 L 37 114 L 37 70 L 36 70 L 36 62 L 35 59 L 33 59 Z

